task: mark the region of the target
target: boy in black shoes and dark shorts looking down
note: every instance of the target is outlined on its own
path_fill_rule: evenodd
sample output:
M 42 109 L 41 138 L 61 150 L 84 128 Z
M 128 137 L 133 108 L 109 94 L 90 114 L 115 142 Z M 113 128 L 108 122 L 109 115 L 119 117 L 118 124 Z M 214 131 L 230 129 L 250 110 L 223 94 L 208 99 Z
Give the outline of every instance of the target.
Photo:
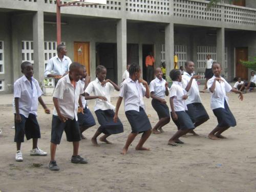
M 51 134 L 51 161 L 49 163 L 50 170 L 59 170 L 55 161 L 55 153 L 57 144 L 60 143 L 63 131 L 65 131 L 67 140 L 73 142 L 72 163 L 88 163 L 78 155 L 79 141 L 81 140 L 80 129 L 77 121 L 78 101 L 83 88 L 79 79 L 82 75 L 82 67 L 78 62 L 73 62 L 69 68 L 69 74 L 59 79 L 54 93 L 53 103 L 54 111 L 52 117 L 52 134 Z M 82 105 L 80 105 L 82 108 Z

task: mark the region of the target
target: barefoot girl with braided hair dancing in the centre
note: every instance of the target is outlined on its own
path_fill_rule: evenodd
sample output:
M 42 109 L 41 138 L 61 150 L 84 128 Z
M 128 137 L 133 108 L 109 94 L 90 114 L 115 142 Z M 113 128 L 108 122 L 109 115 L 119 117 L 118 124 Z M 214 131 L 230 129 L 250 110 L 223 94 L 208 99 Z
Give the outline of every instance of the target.
M 150 120 L 144 111 L 145 105 L 143 102 L 143 96 L 150 98 L 150 88 L 145 80 L 140 79 L 141 69 L 138 65 L 131 65 L 129 74 L 130 77 L 121 83 L 120 95 L 116 103 L 116 113 L 114 116 L 114 121 L 117 122 L 118 110 L 124 98 L 125 115 L 131 124 L 132 133 L 129 134 L 123 147 L 121 152 L 123 155 L 127 153 L 129 146 L 139 133 L 143 134 L 135 149 L 149 151 L 150 148 L 143 147 L 143 144 L 152 132 Z

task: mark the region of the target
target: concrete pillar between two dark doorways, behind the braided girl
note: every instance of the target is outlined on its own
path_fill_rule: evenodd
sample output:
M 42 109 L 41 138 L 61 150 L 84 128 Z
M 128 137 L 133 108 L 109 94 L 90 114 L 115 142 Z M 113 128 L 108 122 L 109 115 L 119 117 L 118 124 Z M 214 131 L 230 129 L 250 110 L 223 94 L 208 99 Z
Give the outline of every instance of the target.
M 122 82 L 122 74 L 126 70 L 127 65 L 127 37 L 126 37 L 126 19 L 121 18 L 117 21 L 117 81 Z

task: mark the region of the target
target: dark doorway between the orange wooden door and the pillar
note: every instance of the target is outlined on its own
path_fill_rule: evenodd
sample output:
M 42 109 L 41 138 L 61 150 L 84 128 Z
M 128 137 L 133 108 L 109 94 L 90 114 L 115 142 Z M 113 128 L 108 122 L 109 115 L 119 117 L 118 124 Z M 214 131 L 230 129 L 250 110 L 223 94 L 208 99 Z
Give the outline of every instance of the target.
M 96 43 L 96 66 L 106 68 L 106 79 L 117 83 L 117 49 L 116 44 Z

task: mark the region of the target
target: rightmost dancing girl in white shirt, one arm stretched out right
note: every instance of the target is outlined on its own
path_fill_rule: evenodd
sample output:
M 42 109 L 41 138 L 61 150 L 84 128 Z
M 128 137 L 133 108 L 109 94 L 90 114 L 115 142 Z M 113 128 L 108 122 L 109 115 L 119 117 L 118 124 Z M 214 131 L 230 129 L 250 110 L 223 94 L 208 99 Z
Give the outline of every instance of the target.
M 230 126 L 236 126 L 237 122 L 233 114 L 229 110 L 227 103 L 226 92 L 239 93 L 239 99 L 243 100 L 243 94 L 230 86 L 228 82 L 221 77 L 222 67 L 220 63 L 215 62 L 212 64 L 212 71 L 214 76 L 208 80 L 207 87 L 211 92 L 210 107 L 218 120 L 218 125 L 212 130 L 208 137 L 210 139 L 226 139 L 221 134 L 226 131 Z

